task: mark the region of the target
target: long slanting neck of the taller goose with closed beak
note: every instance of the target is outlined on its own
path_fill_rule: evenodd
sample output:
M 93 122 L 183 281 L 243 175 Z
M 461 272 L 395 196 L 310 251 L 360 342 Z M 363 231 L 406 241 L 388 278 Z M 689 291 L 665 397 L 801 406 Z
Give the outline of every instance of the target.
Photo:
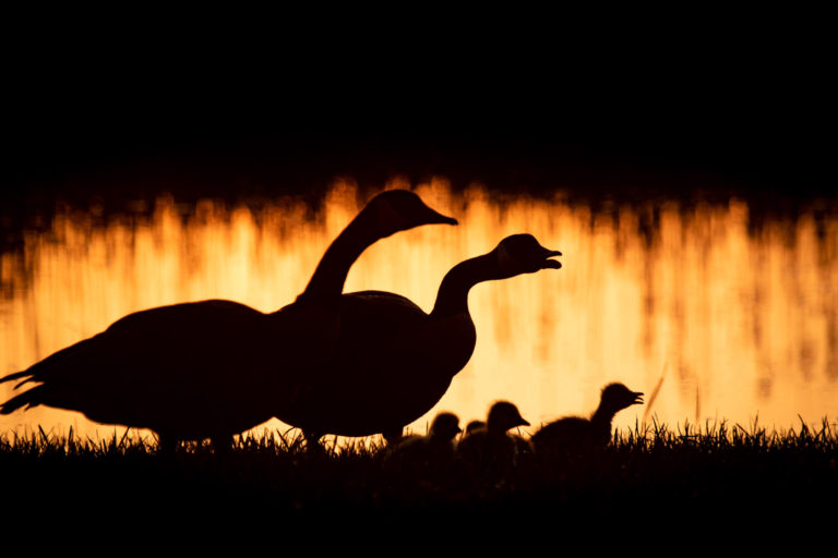
M 339 296 L 344 291 L 349 268 L 361 252 L 380 238 L 380 234 L 371 230 L 363 214 L 356 217 L 323 254 L 308 287 L 297 298 L 297 302 Z

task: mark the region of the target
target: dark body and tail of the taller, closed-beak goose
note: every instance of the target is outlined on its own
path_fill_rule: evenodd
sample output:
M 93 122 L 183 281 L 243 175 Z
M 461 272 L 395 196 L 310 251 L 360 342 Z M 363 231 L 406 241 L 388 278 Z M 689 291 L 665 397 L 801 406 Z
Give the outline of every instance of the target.
M 311 335 L 315 324 L 334 324 L 318 308 L 307 317 L 314 314 L 320 319 L 290 327 L 291 320 L 220 300 L 137 312 L 25 371 L 19 386 L 40 385 L 2 412 L 45 404 L 175 437 L 235 434 L 271 418 L 266 396 L 277 392 L 277 349 L 301 349 L 282 360 L 296 367 L 334 351 L 328 342 L 336 336 Z

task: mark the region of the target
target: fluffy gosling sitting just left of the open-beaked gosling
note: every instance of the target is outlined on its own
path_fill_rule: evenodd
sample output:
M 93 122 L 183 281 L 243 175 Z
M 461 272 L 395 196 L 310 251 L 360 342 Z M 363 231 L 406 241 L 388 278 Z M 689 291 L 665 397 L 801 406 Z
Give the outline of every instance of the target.
M 508 472 L 528 446 L 519 436 L 507 434 L 507 430 L 516 426 L 529 426 L 529 422 L 520 416 L 514 403 L 498 401 L 489 410 L 486 426 L 463 437 L 457 446 L 457 456 L 472 470 Z

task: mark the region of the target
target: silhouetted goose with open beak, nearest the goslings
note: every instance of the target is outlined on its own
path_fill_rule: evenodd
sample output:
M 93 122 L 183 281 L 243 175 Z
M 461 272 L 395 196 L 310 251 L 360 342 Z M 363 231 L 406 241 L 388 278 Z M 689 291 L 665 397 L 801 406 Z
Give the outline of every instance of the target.
M 443 278 L 430 314 L 398 294 L 362 291 L 340 296 L 340 335 L 334 360 L 309 368 L 295 398 L 276 417 L 308 440 L 325 434 L 397 439 L 427 413 L 468 363 L 477 340 L 468 311 L 470 289 L 541 269 L 559 269 L 560 252 L 531 234 L 503 239 L 488 254 L 466 259 Z

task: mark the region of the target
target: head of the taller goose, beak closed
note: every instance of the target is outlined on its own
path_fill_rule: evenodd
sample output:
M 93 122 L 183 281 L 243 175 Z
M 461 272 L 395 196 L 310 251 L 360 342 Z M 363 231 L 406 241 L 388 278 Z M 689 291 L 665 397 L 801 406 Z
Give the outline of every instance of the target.
M 367 204 L 363 211 L 373 216 L 381 238 L 420 225 L 457 225 L 456 219 L 431 209 L 418 195 L 407 190 L 382 192 Z

